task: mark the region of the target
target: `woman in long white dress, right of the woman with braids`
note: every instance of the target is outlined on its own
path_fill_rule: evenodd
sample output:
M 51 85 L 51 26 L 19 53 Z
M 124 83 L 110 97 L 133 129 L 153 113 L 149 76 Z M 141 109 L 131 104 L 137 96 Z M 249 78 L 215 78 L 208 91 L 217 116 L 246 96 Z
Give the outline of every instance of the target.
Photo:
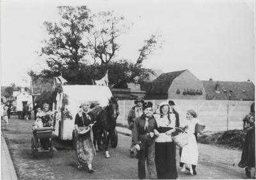
M 180 166 L 182 166 L 182 172 L 187 169 L 191 175 L 196 175 L 196 165 L 198 162 L 198 147 L 195 136 L 196 123 L 204 125 L 199 119 L 196 118 L 196 112 L 193 109 L 189 109 L 186 112 L 186 120 L 184 121 L 184 130 L 188 133 L 189 142 L 182 148 L 180 157 Z M 185 164 L 186 163 L 186 164 Z

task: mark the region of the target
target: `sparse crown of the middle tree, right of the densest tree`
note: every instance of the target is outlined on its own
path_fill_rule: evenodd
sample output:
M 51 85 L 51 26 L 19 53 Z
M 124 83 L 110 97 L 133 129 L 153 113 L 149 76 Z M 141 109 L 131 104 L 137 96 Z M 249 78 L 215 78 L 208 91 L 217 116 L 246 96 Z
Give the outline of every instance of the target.
M 92 28 L 87 36 L 90 55 L 94 59 L 100 59 L 100 64 L 108 64 L 116 51 L 120 48 L 116 39 L 129 31 L 129 27 L 124 22 L 124 17 L 115 16 L 114 11 L 102 11 L 92 16 Z

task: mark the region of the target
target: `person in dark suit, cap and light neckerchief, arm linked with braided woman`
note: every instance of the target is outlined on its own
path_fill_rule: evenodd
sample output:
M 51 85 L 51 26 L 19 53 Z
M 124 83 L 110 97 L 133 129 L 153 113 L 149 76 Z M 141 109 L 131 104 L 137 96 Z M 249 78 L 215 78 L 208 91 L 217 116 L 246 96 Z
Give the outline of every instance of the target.
M 152 102 L 143 103 L 143 115 L 137 117 L 132 129 L 132 142 L 138 152 L 138 176 L 140 179 L 146 178 L 145 161 L 150 179 L 157 179 L 155 165 L 155 133 L 157 128 L 156 119 L 152 117 Z

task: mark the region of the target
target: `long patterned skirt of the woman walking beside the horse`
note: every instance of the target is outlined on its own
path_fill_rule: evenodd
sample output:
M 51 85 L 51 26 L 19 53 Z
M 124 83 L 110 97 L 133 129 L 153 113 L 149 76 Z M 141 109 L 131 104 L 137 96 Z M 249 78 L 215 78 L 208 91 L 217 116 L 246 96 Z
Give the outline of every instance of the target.
M 78 163 L 92 164 L 93 156 L 95 155 L 95 147 L 93 145 L 93 132 L 90 130 L 84 135 L 77 134 L 76 155 Z

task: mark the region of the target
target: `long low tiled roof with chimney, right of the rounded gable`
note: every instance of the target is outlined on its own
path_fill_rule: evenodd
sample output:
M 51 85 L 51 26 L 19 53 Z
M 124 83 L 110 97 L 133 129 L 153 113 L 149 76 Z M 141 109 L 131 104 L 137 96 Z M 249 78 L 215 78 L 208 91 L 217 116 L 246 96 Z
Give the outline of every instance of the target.
M 220 93 L 216 92 L 216 81 L 202 80 L 206 92 L 206 100 L 255 100 L 255 86 L 252 82 L 219 81 Z

